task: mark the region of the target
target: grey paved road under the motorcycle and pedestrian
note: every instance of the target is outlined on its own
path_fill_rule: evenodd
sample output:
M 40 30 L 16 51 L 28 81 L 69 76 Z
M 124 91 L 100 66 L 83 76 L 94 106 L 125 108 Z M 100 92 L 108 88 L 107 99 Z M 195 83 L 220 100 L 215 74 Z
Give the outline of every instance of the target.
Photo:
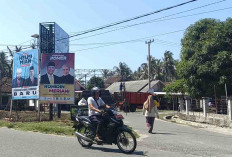
M 125 123 L 137 130 L 141 137 L 131 156 L 193 157 L 232 156 L 232 136 L 183 126 L 163 120 L 155 121 L 155 134 L 148 134 L 141 113 L 129 113 Z M 23 132 L 0 128 L 0 156 L 4 157 L 73 157 L 127 156 L 115 145 L 94 145 L 82 148 L 76 138 Z

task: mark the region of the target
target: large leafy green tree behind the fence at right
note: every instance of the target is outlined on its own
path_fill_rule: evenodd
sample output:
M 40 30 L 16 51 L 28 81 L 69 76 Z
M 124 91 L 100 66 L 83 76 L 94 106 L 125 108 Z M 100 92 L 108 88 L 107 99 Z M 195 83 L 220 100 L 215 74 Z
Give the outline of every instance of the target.
M 178 74 L 186 81 L 188 93 L 195 98 L 232 94 L 232 19 L 224 22 L 203 19 L 185 31 L 181 41 Z

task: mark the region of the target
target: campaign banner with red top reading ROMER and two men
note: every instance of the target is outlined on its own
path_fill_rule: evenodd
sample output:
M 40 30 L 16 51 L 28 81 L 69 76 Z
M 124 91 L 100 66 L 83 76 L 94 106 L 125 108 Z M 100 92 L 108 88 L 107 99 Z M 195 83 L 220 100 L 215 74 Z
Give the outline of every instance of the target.
M 42 54 L 40 102 L 74 104 L 74 53 Z

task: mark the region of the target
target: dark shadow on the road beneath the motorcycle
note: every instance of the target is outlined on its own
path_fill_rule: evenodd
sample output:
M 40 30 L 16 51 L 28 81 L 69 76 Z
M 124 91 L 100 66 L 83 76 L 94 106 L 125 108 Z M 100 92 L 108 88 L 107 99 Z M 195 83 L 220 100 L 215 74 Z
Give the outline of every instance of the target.
M 101 150 L 103 152 L 114 152 L 114 153 L 121 153 L 121 154 L 124 154 L 121 150 L 119 149 L 113 149 L 113 148 L 105 148 L 105 147 L 94 147 L 92 146 L 91 148 L 89 149 L 93 149 L 93 150 Z M 127 155 L 140 155 L 140 156 L 147 156 L 146 155 L 146 152 L 144 151 L 134 151 L 133 153 L 131 154 L 127 154 Z

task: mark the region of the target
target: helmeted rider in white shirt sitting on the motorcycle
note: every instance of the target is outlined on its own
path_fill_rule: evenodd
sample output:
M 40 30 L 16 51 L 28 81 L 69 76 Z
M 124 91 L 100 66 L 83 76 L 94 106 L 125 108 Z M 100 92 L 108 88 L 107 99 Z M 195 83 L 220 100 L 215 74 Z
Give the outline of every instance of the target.
M 105 102 L 100 97 L 100 88 L 93 87 L 91 89 L 91 97 L 88 98 L 88 108 L 89 108 L 89 119 L 96 125 L 96 141 L 102 141 L 99 136 L 99 130 L 102 128 L 102 125 L 106 121 L 105 117 L 102 116 L 100 108 L 110 106 L 106 105 Z

